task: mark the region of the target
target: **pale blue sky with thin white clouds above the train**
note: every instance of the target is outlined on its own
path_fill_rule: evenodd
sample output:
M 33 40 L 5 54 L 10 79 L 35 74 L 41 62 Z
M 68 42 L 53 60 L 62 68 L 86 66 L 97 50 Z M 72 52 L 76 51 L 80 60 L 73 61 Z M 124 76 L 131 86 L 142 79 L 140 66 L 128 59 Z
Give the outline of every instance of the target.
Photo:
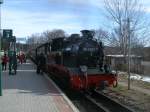
M 149 0 L 144 0 L 144 6 L 150 13 Z M 16 37 L 53 29 L 79 33 L 105 27 L 108 22 L 103 0 L 4 0 L 1 16 L 2 29 L 13 29 Z

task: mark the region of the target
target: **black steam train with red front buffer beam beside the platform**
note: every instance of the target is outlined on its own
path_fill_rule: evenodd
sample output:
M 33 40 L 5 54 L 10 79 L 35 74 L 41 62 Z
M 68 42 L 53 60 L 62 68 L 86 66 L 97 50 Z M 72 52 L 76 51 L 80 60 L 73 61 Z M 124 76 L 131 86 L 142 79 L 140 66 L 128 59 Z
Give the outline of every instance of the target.
M 76 91 L 104 89 L 117 86 L 117 75 L 112 73 L 104 56 L 103 43 L 94 38 L 94 32 L 58 37 L 32 50 L 32 58 L 43 53 L 45 71 L 64 86 Z

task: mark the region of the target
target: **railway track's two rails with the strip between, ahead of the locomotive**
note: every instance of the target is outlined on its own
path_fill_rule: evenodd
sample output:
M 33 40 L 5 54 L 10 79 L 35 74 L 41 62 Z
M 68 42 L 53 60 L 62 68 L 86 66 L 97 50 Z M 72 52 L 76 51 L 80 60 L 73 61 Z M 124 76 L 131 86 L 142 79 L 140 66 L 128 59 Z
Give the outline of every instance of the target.
M 85 94 L 85 97 L 93 104 L 97 105 L 102 112 L 134 112 L 130 108 L 112 100 L 110 97 L 99 91 L 93 91 L 90 95 Z

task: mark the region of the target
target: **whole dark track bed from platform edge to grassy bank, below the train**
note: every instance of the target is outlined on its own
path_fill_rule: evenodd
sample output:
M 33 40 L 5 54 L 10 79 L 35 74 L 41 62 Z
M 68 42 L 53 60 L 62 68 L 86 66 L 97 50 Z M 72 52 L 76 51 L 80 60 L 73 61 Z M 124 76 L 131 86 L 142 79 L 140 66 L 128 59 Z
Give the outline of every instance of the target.
M 112 100 L 102 92 L 92 91 L 91 93 L 76 93 L 64 88 L 63 84 L 55 78 L 53 78 L 53 80 L 81 112 L 134 112 L 119 102 Z

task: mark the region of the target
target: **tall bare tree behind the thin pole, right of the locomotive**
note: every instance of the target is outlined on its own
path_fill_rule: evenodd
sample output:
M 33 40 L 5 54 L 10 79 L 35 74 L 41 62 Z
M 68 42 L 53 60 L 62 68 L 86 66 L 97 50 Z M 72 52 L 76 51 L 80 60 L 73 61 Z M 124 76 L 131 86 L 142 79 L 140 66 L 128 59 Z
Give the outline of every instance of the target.
M 114 26 L 110 43 L 119 46 L 122 54 L 127 54 L 130 22 L 131 47 L 144 46 L 149 36 L 149 24 L 142 4 L 138 0 L 104 0 L 104 4 L 107 18 L 112 20 Z

